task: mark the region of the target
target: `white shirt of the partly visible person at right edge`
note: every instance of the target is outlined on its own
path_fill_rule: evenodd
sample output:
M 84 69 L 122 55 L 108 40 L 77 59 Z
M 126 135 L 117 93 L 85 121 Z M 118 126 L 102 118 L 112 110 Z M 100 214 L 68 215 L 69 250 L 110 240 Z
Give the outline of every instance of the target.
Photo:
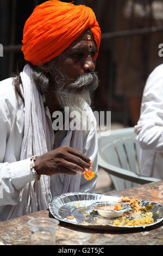
M 163 179 L 163 64 L 148 77 L 135 133 L 141 147 L 141 173 Z

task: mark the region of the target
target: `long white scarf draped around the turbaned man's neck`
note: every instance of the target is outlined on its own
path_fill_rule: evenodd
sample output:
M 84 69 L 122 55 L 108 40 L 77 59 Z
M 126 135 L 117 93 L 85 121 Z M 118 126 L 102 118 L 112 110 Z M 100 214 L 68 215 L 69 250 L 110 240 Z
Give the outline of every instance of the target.
M 31 69 L 27 64 L 20 74 L 25 105 L 24 137 L 20 160 L 28 159 L 33 155 L 40 156 L 45 154 L 47 151 L 53 149 L 52 145 L 54 143 L 52 121 L 46 115 L 42 96 L 37 90 L 30 73 Z M 68 131 L 68 133 L 72 133 L 71 140 L 70 136 L 68 136 L 69 141 L 66 141 L 65 137 L 62 144 L 70 145 L 70 147 L 81 151 L 83 149 L 82 131 Z M 63 186 L 59 188 L 60 192 L 78 192 L 80 177 L 80 174 L 77 176 L 65 175 Z M 12 207 L 9 217 L 26 215 L 35 211 L 48 209 L 48 203 L 51 199 L 50 180 L 50 176 L 41 175 L 39 181 L 34 180 L 27 183 L 20 192 L 18 204 Z

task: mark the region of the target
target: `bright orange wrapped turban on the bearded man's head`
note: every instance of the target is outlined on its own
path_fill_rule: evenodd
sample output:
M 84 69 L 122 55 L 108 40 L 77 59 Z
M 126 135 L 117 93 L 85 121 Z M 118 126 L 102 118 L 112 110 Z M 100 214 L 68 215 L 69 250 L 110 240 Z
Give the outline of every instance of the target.
M 58 0 L 37 5 L 23 29 L 24 58 L 42 65 L 59 56 L 88 28 L 99 50 L 101 29 L 92 9 Z

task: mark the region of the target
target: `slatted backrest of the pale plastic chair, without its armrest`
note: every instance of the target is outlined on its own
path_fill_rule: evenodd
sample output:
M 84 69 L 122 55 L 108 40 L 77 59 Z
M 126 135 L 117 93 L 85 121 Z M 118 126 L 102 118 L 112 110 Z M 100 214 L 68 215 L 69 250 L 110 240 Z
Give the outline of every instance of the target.
M 136 174 L 139 168 L 139 143 L 136 140 L 134 127 L 101 132 L 98 137 L 99 154 L 102 158 L 116 166 Z M 139 184 L 110 175 L 116 190 L 137 186 Z

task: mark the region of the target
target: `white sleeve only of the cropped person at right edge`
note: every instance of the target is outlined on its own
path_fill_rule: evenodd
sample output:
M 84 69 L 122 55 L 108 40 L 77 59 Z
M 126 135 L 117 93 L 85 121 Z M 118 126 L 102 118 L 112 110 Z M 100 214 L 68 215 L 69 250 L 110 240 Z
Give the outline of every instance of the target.
M 142 149 L 163 152 L 163 65 L 148 77 L 135 133 Z

